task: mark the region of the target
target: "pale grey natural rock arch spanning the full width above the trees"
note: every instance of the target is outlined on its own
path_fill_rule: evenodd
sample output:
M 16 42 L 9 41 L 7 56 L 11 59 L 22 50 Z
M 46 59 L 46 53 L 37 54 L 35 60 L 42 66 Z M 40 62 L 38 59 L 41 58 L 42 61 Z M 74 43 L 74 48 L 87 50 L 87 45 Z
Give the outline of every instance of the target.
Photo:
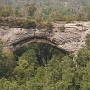
M 0 38 L 7 42 L 11 50 L 16 50 L 26 43 L 42 42 L 51 44 L 65 52 L 75 52 L 85 44 L 85 36 L 90 34 L 90 21 L 53 23 L 50 33 L 46 29 L 23 29 L 0 27 Z

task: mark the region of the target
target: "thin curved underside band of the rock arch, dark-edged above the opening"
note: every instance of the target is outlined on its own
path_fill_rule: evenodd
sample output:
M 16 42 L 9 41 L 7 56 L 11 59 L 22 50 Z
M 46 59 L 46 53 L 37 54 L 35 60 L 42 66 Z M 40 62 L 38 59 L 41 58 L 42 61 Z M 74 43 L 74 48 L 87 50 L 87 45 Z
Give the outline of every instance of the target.
M 39 38 L 38 37 L 27 38 L 27 39 L 23 39 L 19 42 L 13 43 L 11 45 L 11 49 L 12 49 L 12 51 L 16 51 L 16 50 L 20 49 L 21 47 L 23 47 L 29 43 L 34 43 L 34 42 L 51 45 L 51 46 L 55 47 L 56 49 L 60 50 L 62 53 L 69 54 L 68 51 L 58 47 L 58 45 L 55 42 L 52 42 L 47 38 L 40 38 L 40 37 Z

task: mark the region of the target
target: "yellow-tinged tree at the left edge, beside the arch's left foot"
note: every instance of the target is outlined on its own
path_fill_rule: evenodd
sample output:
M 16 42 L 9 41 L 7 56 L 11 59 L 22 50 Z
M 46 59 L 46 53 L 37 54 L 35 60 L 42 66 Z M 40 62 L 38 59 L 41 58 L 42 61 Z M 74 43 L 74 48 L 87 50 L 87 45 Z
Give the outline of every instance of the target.
M 15 67 L 15 57 L 9 49 L 4 48 L 4 42 L 0 41 L 0 78 L 9 77 Z

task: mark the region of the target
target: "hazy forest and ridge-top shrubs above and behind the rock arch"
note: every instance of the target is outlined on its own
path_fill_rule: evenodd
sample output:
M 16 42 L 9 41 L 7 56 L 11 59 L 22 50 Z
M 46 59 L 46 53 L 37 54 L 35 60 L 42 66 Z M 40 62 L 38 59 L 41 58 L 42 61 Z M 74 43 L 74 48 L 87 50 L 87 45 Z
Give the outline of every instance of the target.
M 0 0 L 3 26 L 52 29 L 55 21 L 89 20 L 90 0 Z

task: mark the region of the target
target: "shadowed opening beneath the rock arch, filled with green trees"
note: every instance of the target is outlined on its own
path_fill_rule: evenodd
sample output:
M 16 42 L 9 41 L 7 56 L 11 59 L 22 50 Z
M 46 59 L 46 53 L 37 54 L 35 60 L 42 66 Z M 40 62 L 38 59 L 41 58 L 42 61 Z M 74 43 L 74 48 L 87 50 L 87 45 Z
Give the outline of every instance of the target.
M 14 51 L 14 54 L 17 56 L 17 60 L 21 58 L 33 61 L 32 59 L 35 58 L 40 66 L 45 66 L 54 57 L 62 58 L 63 56 L 66 55 L 55 46 L 52 46 L 51 44 L 48 43 L 40 43 L 40 42 L 29 43 L 26 46 L 23 46 Z

